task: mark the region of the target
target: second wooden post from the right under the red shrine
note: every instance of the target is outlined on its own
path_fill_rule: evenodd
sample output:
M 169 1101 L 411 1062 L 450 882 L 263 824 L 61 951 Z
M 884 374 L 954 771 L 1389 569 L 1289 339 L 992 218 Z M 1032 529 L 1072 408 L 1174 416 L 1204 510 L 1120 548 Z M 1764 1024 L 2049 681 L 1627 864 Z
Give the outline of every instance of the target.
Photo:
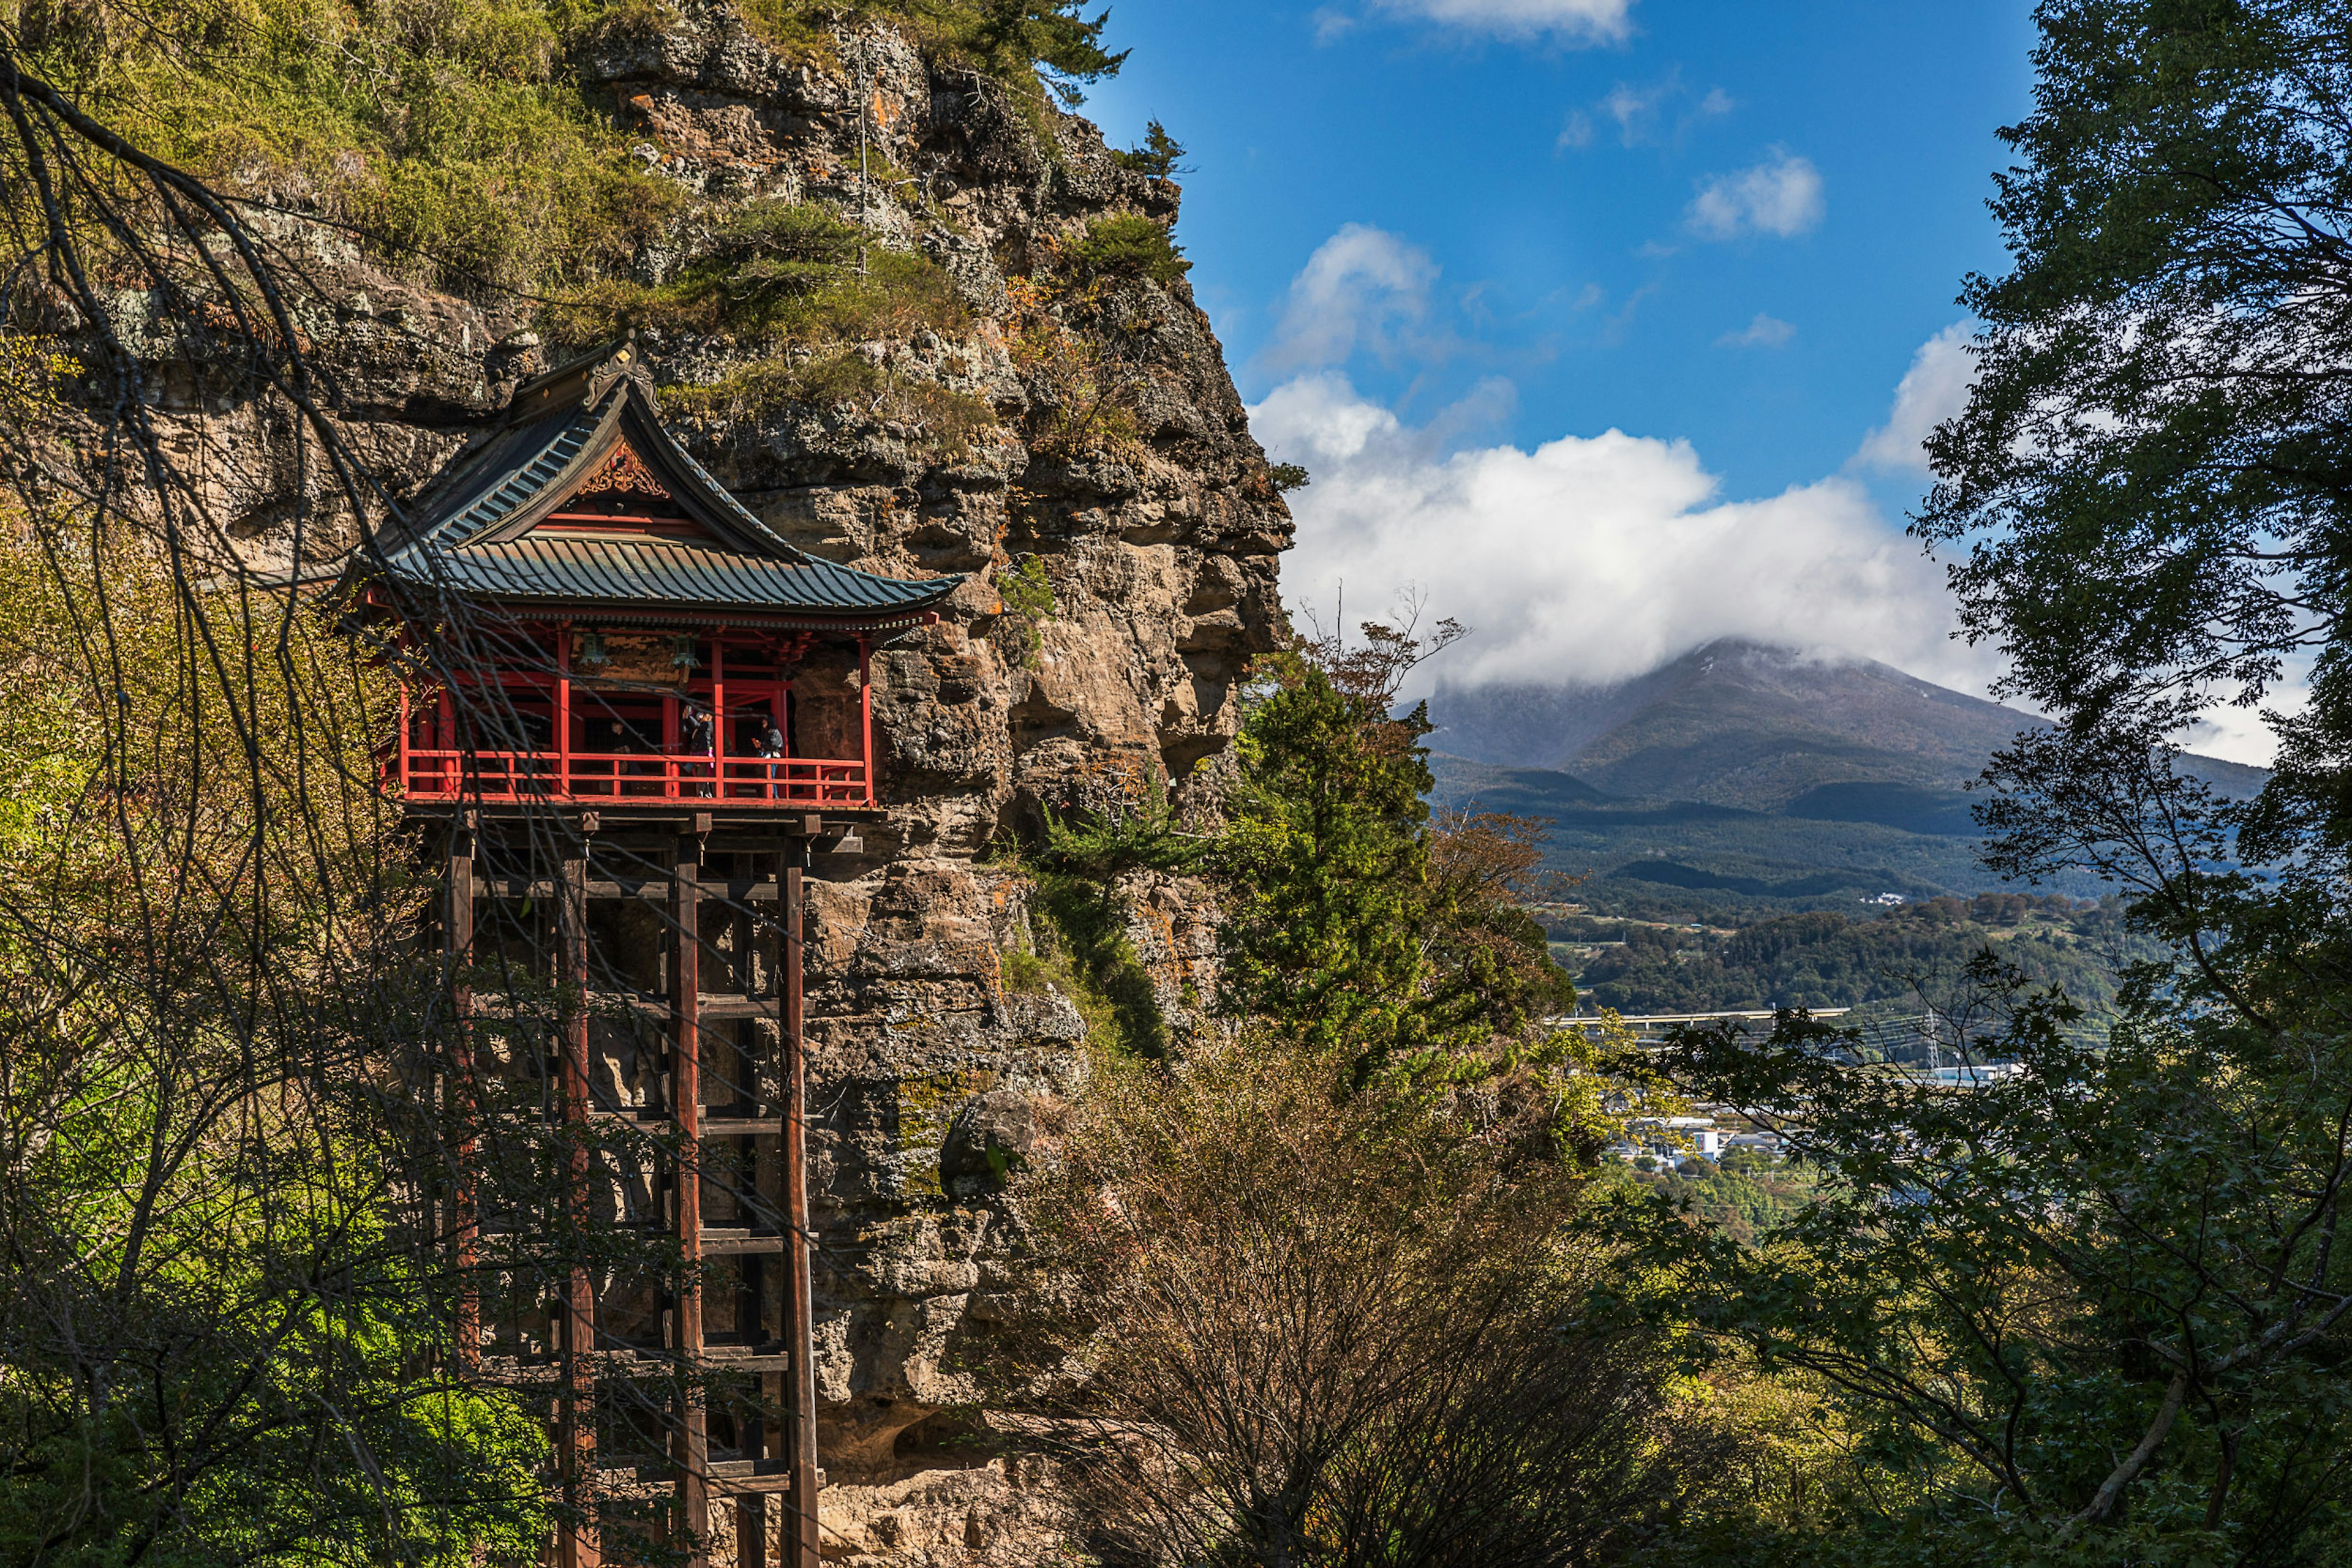
M 706 818 L 708 820 L 708 818 Z M 684 1408 L 677 1425 L 677 1544 L 687 1563 L 708 1561 L 710 1533 L 710 1408 L 703 1399 L 703 940 L 701 940 L 701 844 L 677 837 L 670 884 L 670 919 L 677 929 L 677 961 L 670 964 L 670 1114 L 677 1119 L 677 1251 L 684 1276 L 677 1286 L 677 1352 Z

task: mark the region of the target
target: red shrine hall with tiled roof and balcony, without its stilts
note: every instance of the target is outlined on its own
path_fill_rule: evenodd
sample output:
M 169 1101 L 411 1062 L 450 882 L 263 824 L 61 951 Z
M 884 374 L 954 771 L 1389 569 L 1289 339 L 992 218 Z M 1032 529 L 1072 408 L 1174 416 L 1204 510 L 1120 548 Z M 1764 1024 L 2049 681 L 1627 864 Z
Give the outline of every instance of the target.
M 381 548 L 388 585 L 475 632 L 402 712 L 407 799 L 873 806 L 873 644 L 962 578 L 788 545 L 663 430 L 628 346 L 524 383 L 503 418 Z

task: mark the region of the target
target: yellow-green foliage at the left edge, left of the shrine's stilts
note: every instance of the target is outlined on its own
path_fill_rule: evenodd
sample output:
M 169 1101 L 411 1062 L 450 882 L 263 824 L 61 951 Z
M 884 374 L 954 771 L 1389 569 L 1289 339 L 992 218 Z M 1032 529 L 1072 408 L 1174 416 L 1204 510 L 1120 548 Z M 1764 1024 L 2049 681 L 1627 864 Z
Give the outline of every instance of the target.
M 183 590 L 136 534 L 0 536 L 7 1561 L 536 1549 L 543 1429 L 459 1375 L 419 1251 L 388 712 L 320 607 Z

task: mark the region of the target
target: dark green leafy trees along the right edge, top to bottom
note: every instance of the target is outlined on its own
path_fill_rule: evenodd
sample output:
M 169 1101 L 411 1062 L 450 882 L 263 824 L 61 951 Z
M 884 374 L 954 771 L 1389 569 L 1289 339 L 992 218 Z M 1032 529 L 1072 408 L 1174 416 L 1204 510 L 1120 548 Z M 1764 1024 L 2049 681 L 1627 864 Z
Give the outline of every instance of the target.
M 1825 1197 L 1715 1248 L 1705 1321 L 1825 1380 L 1905 1479 L 1771 1561 L 2326 1563 L 2352 1554 L 2352 33 L 2317 0 L 2046 0 L 2034 113 L 1969 282 L 1966 411 L 1917 531 L 2058 719 L 1997 759 L 1992 863 L 2089 870 L 2164 959 L 2114 1025 L 2018 992 L 1933 1091 L 1783 1018 L 1693 1034 Z M 2249 806 L 2173 762 L 2312 654 Z

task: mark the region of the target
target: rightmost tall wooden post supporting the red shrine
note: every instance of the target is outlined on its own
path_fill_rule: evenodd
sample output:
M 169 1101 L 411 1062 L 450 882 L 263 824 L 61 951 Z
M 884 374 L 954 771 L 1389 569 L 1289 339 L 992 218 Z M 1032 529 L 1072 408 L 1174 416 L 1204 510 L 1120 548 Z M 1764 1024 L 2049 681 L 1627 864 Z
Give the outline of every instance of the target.
M 802 1032 L 802 872 L 818 818 L 802 818 L 802 835 L 783 851 L 783 1340 L 793 1356 L 790 1460 L 793 1528 L 786 1568 L 818 1568 L 816 1530 L 816 1309 L 809 1255 L 809 1041 Z

